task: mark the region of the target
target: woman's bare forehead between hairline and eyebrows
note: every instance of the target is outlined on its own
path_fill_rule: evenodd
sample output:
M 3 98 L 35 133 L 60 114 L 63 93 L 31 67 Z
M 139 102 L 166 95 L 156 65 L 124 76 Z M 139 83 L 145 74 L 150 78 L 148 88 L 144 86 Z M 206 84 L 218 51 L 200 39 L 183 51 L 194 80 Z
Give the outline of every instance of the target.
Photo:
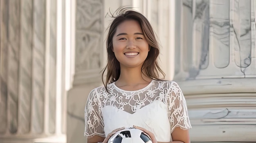
M 141 26 L 136 20 L 125 20 L 117 26 L 116 33 L 140 32 L 142 33 Z

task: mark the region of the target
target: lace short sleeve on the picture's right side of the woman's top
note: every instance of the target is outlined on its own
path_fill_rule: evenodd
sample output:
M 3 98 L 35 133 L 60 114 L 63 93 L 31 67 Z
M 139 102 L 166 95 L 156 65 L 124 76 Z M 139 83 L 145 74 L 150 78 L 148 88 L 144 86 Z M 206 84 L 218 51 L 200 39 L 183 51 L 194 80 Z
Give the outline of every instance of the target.
M 172 81 L 170 83 L 167 103 L 168 116 L 171 123 L 171 132 L 173 132 L 176 127 L 180 127 L 182 130 L 192 128 L 189 121 L 186 100 L 176 82 Z

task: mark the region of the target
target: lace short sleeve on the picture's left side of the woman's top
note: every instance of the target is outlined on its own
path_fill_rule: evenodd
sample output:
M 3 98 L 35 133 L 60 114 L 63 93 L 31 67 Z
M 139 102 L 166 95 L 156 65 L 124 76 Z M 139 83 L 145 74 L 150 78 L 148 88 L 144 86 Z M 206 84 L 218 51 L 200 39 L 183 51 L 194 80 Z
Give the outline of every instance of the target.
M 101 104 L 97 98 L 97 90 L 90 92 L 85 106 L 85 136 L 94 135 L 105 137 L 104 124 L 101 116 Z

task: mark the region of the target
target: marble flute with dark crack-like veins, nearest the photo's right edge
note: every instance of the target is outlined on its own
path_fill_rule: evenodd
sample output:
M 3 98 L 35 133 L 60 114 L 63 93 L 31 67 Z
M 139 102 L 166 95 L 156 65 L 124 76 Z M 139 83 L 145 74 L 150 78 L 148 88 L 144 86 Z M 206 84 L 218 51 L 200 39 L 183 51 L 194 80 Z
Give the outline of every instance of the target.
M 245 69 L 251 64 L 251 0 L 231 1 L 231 47 L 236 66 Z

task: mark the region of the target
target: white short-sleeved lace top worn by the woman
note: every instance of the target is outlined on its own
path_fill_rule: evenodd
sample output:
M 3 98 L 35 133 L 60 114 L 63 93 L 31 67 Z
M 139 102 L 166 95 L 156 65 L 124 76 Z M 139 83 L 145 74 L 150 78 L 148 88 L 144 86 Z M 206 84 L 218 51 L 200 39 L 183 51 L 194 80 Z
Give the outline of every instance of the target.
M 95 88 L 85 106 L 85 136 L 107 136 L 121 127 L 140 126 L 159 142 L 170 142 L 175 127 L 191 128 L 186 101 L 174 81 L 152 80 L 148 86 L 126 91 L 109 84 Z

